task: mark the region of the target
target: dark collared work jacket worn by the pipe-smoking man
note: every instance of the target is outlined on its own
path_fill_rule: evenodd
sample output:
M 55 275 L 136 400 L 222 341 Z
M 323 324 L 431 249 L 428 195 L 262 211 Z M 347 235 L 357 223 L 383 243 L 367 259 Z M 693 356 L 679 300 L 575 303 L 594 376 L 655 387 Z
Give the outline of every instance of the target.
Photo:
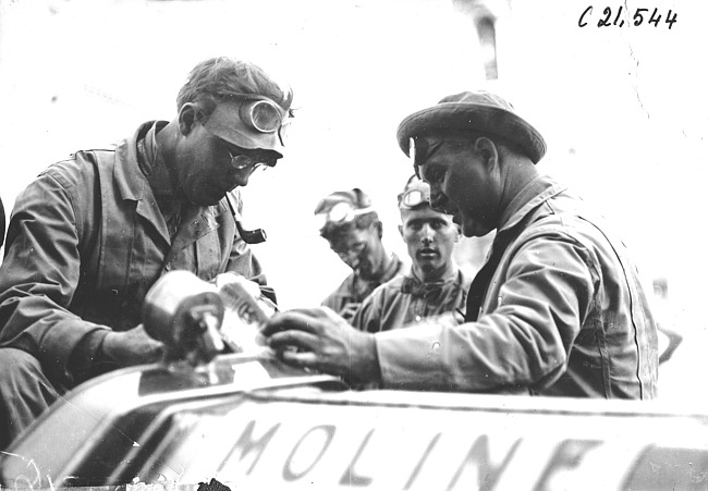
M 137 326 L 147 291 L 169 270 L 265 284 L 225 198 L 191 207 L 171 242 L 136 155 L 152 124 L 115 149 L 49 167 L 17 197 L 0 267 L 0 346 L 34 355 L 52 381 L 71 385 L 72 357 L 89 370 L 109 330 Z

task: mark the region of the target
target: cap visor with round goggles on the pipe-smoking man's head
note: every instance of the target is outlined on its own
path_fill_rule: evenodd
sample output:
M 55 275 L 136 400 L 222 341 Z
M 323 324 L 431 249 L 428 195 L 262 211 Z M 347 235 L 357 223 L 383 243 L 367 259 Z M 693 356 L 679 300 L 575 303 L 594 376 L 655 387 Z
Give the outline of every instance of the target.
M 204 127 L 236 147 L 273 150 L 282 156 L 291 121 L 285 109 L 265 96 L 232 94 L 217 105 Z

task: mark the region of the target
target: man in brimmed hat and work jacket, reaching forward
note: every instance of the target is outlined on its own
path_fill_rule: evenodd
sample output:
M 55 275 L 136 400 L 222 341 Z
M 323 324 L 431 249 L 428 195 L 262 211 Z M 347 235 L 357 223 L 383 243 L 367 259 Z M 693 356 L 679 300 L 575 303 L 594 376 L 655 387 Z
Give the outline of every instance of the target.
M 398 139 L 434 208 L 466 236 L 497 230 L 465 322 L 368 334 L 294 310 L 266 329 L 282 358 L 383 388 L 656 397 L 657 331 L 636 268 L 596 212 L 539 174 L 541 135 L 475 91 L 405 118 Z

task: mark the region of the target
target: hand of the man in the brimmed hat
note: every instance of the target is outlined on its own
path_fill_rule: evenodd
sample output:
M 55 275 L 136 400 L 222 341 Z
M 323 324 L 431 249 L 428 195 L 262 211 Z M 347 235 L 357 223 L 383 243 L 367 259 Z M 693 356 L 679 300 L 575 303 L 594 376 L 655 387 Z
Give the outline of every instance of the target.
M 355 382 L 377 382 L 381 378 L 374 335 L 352 328 L 327 307 L 277 314 L 268 320 L 263 334 L 290 365 Z

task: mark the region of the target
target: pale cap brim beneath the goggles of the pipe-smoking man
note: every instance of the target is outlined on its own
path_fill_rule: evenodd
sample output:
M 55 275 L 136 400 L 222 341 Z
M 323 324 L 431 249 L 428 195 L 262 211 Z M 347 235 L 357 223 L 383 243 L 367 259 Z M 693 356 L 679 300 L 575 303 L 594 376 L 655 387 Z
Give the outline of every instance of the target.
M 282 158 L 284 148 L 280 142 L 278 132 L 260 133 L 249 128 L 241 121 L 241 116 L 239 115 L 240 107 L 241 103 L 239 101 L 219 102 L 204 127 L 236 147 L 273 150 L 280 154 Z

